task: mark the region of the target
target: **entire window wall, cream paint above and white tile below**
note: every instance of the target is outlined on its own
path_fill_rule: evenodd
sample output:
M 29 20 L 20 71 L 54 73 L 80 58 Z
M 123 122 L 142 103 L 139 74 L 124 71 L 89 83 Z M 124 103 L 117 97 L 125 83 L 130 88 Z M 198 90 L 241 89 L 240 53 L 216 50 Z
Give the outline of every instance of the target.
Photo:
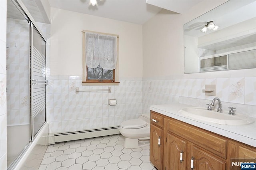
M 52 8 L 50 77 L 47 86 L 47 121 L 50 132 L 118 126 L 141 114 L 142 26 Z M 119 35 L 119 85 L 108 92 L 75 93 L 82 86 L 82 30 Z M 49 57 L 48 57 L 49 59 Z M 116 99 L 109 106 L 108 99 Z

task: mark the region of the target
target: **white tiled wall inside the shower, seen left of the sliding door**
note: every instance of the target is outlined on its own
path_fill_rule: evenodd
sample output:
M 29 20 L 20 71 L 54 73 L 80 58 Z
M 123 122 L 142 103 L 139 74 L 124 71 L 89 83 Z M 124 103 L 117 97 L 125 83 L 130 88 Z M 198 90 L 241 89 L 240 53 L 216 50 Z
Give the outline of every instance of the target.
M 29 124 L 29 24 L 7 18 L 7 125 Z

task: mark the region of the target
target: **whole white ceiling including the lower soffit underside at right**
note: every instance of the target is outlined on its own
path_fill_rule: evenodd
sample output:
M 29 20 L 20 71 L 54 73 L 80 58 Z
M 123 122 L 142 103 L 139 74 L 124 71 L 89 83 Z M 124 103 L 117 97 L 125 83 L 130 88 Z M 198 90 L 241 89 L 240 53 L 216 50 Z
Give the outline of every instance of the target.
M 163 7 L 174 12 L 184 12 L 202 0 L 103 0 L 98 6 L 89 6 L 89 0 L 49 0 L 50 6 L 84 14 L 110 18 L 134 24 L 144 24 Z M 158 7 L 160 6 L 160 7 Z

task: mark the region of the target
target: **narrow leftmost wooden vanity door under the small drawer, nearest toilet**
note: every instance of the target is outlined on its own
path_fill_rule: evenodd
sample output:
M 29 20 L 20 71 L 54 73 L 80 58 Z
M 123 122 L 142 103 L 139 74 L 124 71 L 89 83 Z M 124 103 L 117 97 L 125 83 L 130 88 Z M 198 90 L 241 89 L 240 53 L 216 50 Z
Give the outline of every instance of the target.
M 164 147 L 164 130 L 150 124 L 150 162 L 162 170 Z

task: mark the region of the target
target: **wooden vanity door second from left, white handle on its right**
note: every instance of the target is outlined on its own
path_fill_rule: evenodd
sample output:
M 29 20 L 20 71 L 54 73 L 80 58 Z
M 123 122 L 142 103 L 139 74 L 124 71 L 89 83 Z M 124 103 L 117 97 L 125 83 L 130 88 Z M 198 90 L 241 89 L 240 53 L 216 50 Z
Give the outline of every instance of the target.
M 172 133 L 167 133 L 167 142 L 164 146 L 164 159 L 166 170 L 186 169 L 186 140 L 179 138 Z M 182 158 L 182 161 L 180 161 Z

